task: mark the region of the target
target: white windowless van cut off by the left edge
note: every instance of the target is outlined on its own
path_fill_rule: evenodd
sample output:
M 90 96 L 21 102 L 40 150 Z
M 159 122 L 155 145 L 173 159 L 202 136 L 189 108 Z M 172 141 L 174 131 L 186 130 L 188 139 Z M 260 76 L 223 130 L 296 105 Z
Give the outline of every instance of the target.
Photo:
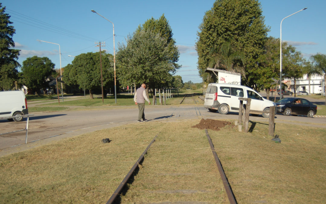
M 27 115 L 27 101 L 22 91 L 0 91 L 0 119 L 17 116 L 10 121 L 22 121 L 22 115 Z

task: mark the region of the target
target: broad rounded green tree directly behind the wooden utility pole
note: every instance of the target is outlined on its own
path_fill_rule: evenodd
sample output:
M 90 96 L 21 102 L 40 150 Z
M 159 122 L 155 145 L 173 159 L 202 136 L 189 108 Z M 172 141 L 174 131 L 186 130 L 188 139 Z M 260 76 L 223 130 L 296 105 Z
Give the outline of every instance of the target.
M 103 91 L 111 85 L 114 79 L 112 55 L 102 51 L 102 78 Z M 79 88 L 88 89 L 90 98 L 93 99 L 95 89 L 101 87 L 100 54 L 83 53 L 77 55 L 72 61 L 72 66 L 67 66 L 63 73 L 67 85 L 79 85 Z M 106 97 L 106 93 L 103 93 Z

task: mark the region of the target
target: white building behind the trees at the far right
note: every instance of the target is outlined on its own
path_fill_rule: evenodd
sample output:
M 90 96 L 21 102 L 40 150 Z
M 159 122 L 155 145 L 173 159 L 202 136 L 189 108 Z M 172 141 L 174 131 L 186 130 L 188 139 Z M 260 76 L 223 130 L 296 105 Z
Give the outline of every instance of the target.
M 286 84 L 287 90 L 294 92 L 306 91 L 309 93 L 309 79 L 305 74 L 302 79 L 296 81 L 296 87 L 294 87 L 294 81 L 284 80 L 282 81 Z M 325 94 L 325 80 L 322 76 L 311 76 L 310 77 L 310 94 Z

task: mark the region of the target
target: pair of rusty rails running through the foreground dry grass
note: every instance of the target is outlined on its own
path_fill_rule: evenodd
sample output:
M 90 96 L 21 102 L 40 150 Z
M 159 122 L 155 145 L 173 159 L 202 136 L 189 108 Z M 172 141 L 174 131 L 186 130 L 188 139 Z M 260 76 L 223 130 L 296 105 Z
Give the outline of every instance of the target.
M 225 172 L 223 170 L 223 167 L 221 165 L 221 162 L 217 156 L 217 153 L 215 151 L 214 148 L 214 144 L 207 132 L 207 130 L 205 129 L 206 132 L 206 136 L 207 136 L 207 140 L 208 143 L 211 147 L 218 171 L 220 173 L 220 177 L 221 180 L 223 182 L 224 188 L 225 188 L 225 192 L 228 196 L 229 202 L 231 204 L 235 204 L 237 203 L 235 196 L 232 192 L 230 183 L 225 175 Z M 137 172 L 140 170 L 139 165 L 142 164 L 142 162 L 145 159 L 145 154 L 147 154 L 148 149 L 150 148 L 150 146 L 155 142 L 157 135 L 154 137 L 154 139 L 150 142 L 150 144 L 147 146 L 147 148 L 144 150 L 144 152 L 141 154 L 141 156 L 139 157 L 139 159 L 137 160 L 137 162 L 135 163 L 135 165 L 133 165 L 133 167 L 130 169 L 130 171 L 128 172 L 128 174 L 126 175 L 126 177 L 124 178 L 124 180 L 122 180 L 122 182 L 120 183 L 120 185 L 118 186 L 118 188 L 114 191 L 114 193 L 112 194 L 112 196 L 110 197 L 110 199 L 107 201 L 107 204 L 111 204 L 111 203 L 120 203 L 121 201 L 121 195 L 122 193 L 127 194 L 128 193 L 128 187 L 126 186 L 127 183 L 132 183 L 132 179 L 134 178 L 133 176 L 135 176 L 137 174 Z

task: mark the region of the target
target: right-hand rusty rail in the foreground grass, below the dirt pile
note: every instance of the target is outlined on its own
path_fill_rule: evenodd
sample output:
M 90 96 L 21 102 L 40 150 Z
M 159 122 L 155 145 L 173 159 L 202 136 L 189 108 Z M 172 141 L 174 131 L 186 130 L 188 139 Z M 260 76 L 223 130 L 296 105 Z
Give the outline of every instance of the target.
M 211 137 L 209 136 L 209 134 L 207 132 L 207 129 L 205 129 L 205 132 L 206 132 L 206 136 L 207 136 L 209 145 L 211 146 L 212 153 L 214 155 L 215 162 L 216 162 L 218 171 L 219 171 L 219 173 L 221 175 L 221 178 L 222 178 L 222 181 L 223 181 L 223 184 L 224 184 L 224 188 L 225 188 L 226 194 L 228 195 L 230 204 L 235 204 L 235 203 L 237 203 L 237 201 L 235 199 L 235 196 L 233 195 L 232 189 L 230 187 L 230 183 L 229 183 L 228 179 L 226 178 L 226 175 L 225 175 L 225 172 L 223 170 L 222 164 L 221 164 L 220 160 L 218 159 L 218 156 L 216 154 L 216 151 L 215 151 L 213 142 L 211 140 Z

